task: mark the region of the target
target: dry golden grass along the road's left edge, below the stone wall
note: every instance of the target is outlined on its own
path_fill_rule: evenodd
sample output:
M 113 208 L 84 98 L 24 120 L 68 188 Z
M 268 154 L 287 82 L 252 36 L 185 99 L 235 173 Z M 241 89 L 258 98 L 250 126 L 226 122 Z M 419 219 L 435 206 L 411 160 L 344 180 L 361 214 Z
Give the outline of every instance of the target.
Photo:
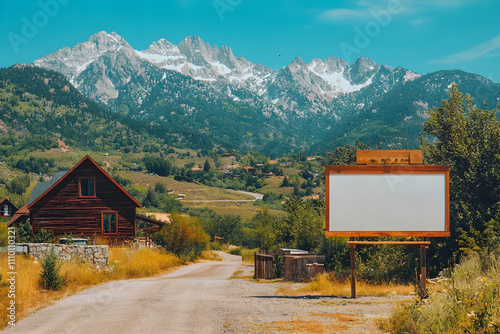
M 7 283 L 7 254 L 0 254 L 0 329 L 7 326 L 7 307 L 10 303 Z M 180 260 L 170 254 L 161 253 L 150 248 L 130 250 L 110 248 L 109 269 L 96 269 L 90 264 L 79 261 L 63 263 L 60 274 L 64 277 L 64 285 L 58 291 L 42 290 L 38 284 L 41 267 L 37 261 L 23 255 L 16 256 L 16 321 L 26 317 L 30 312 L 45 306 L 53 300 L 72 295 L 93 285 L 112 280 L 148 277 L 164 274 L 181 264 Z M 14 300 L 14 299 L 12 299 Z

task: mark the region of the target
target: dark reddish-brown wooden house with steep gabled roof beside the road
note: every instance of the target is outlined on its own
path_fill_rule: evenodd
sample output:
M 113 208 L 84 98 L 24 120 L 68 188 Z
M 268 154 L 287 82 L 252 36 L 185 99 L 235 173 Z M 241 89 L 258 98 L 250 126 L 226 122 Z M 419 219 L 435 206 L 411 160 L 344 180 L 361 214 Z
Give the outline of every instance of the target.
M 99 236 L 106 239 L 135 237 L 136 208 L 141 207 L 89 156 L 68 172 L 57 172 L 39 183 L 28 204 L 8 225 L 29 218 L 33 233 Z

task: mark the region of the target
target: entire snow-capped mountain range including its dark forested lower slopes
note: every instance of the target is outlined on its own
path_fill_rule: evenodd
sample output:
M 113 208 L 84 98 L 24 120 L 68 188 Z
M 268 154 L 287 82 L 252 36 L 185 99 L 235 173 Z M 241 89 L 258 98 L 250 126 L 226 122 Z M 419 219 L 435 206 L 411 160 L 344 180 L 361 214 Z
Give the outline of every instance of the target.
M 178 45 L 160 39 L 138 51 L 118 34 L 101 31 L 32 65 L 58 71 L 84 95 L 151 124 L 189 126 L 194 133 L 231 141 L 221 119 L 232 117 L 232 124 L 243 124 L 241 131 L 249 133 L 247 149 L 285 134 L 288 147 L 300 149 L 327 138 L 336 144 L 367 138 L 389 147 L 415 147 L 427 109 L 446 98 L 452 82 L 476 90 L 474 97 L 493 105 L 500 96 L 498 84 L 478 75 L 422 76 L 364 57 L 352 64 L 333 56 L 309 63 L 296 58 L 274 70 L 196 36 Z M 258 136 L 253 135 L 258 127 L 247 129 L 256 120 L 266 123 Z

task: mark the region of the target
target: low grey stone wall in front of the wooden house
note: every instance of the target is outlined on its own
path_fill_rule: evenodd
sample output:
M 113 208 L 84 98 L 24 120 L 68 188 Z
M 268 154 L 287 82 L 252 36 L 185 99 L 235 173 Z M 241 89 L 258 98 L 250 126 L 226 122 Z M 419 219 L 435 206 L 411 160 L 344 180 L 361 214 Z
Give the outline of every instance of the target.
M 61 244 L 31 244 L 19 243 L 17 246 L 27 246 L 29 255 L 40 260 L 50 253 L 54 247 L 54 254 L 62 261 L 69 261 L 72 258 L 80 258 L 84 263 L 91 263 L 96 267 L 108 265 L 108 246 L 90 246 L 90 245 L 61 245 Z

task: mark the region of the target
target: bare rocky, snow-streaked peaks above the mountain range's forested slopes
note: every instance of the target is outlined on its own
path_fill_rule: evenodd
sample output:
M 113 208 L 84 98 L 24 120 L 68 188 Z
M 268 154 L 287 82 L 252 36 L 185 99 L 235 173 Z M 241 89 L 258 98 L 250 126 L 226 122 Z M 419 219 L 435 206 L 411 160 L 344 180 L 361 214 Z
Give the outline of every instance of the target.
M 85 85 L 81 76 L 101 57 L 128 58 L 140 66 L 148 62 L 158 69 L 176 71 L 203 82 L 227 83 L 236 89 L 246 89 L 273 104 L 301 109 L 289 94 L 292 86 L 309 102 L 330 102 L 339 95 L 353 93 L 373 84 L 377 75 L 390 75 L 394 69 L 377 65 L 373 60 L 359 58 L 351 66 L 344 60 L 329 57 L 313 59 L 306 64 L 300 58 L 275 71 L 261 64 L 254 64 L 243 57 L 236 57 L 227 46 L 210 46 L 199 37 L 191 36 L 174 45 L 165 39 L 152 43 L 146 50 L 134 50 L 118 34 L 101 31 L 73 48 L 65 47 L 36 60 L 35 66 L 61 72 L 77 88 Z M 113 64 L 111 64 L 113 65 Z M 139 68 L 137 68 L 139 69 Z M 420 75 L 405 71 L 405 79 Z M 140 72 L 140 71 L 139 71 Z M 103 75 L 96 82 L 95 97 L 103 103 L 118 97 L 119 87 L 130 80 L 122 77 L 118 84 Z M 146 88 L 147 87 L 142 87 Z

